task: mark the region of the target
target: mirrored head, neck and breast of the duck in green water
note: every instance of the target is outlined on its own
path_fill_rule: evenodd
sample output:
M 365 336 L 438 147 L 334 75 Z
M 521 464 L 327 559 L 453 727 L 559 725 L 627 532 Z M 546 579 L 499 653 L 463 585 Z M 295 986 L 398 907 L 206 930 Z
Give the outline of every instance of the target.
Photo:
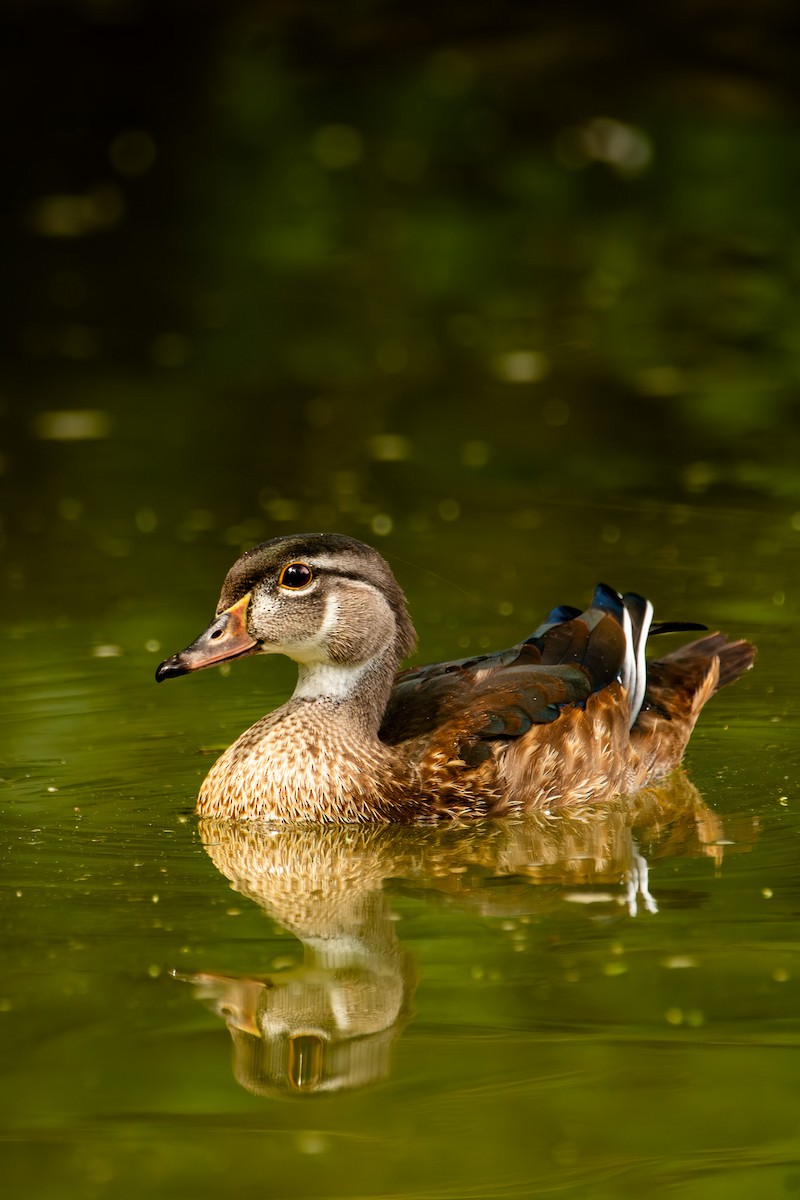
M 235 890 L 303 949 L 290 970 L 184 977 L 225 1020 L 235 1076 L 252 1092 L 324 1094 L 389 1073 L 415 977 L 381 889 L 379 833 L 200 822 L 209 856 Z

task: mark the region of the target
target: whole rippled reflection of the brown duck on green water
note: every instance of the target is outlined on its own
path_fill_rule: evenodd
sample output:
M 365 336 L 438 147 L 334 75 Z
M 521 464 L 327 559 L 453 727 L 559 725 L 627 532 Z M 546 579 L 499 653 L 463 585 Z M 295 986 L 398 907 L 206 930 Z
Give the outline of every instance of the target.
M 721 821 L 682 772 L 602 809 L 441 827 L 200 821 L 209 857 L 241 895 L 299 938 L 300 966 L 235 978 L 181 974 L 228 1025 L 234 1074 L 261 1096 L 366 1087 L 390 1072 L 416 974 L 385 884 L 434 892 L 482 914 L 571 900 L 655 912 L 648 864 L 721 862 Z M 752 826 L 739 832 L 752 841 Z M 501 882 L 503 886 L 499 886 Z M 547 884 L 547 887 L 542 887 Z

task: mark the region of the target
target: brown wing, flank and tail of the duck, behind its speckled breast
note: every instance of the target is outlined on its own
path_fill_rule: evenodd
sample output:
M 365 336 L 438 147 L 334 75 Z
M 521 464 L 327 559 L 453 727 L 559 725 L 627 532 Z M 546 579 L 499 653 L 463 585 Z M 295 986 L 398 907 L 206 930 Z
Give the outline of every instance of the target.
M 645 667 L 651 606 L 604 584 L 576 613 L 554 610 L 498 654 L 397 677 L 380 737 L 408 744 L 434 808 L 468 810 L 475 786 L 494 797 L 492 814 L 509 796 L 551 804 L 636 791 L 680 761 L 703 704 L 752 665 L 748 643 L 712 634 Z

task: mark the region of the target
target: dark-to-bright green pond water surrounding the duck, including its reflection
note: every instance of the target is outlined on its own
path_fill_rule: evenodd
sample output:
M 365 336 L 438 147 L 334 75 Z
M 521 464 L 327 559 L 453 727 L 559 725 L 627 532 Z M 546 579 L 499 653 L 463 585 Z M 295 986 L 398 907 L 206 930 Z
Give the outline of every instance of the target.
M 730 40 L 687 18 L 686 67 L 573 10 L 477 29 L 467 6 L 433 37 L 361 5 L 347 28 L 145 7 L 7 40 L 10 1194 L 796 1190 L 782 6 L 752 30 L 740 6 Z M 131 38 L 148 70 L 120 68 Z M 200 826 L 213 755 L 291 667 L 155 667 L 242 548 L 321 528 L 387 556 L 420 661 L 603 580 L 748 637 L 756 668 L 636 804 Z

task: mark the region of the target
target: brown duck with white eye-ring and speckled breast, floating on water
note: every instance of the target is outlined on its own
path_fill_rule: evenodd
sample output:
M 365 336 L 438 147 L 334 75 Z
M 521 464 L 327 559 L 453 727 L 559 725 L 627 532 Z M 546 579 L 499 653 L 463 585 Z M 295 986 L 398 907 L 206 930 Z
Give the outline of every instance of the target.
M 679 762 L 703 704 L 754 648 L 711 634 L 645 664 L 652 605 L 600 584 L 524 642 L 411 667 L 405 598 L 371 546 L 265 541 L 234 563 L 217 616 L 156 679 L 287 654 L 294 695 L 222 755 L 201 816 L 416 822 L 504 816 L 632 793 Z

